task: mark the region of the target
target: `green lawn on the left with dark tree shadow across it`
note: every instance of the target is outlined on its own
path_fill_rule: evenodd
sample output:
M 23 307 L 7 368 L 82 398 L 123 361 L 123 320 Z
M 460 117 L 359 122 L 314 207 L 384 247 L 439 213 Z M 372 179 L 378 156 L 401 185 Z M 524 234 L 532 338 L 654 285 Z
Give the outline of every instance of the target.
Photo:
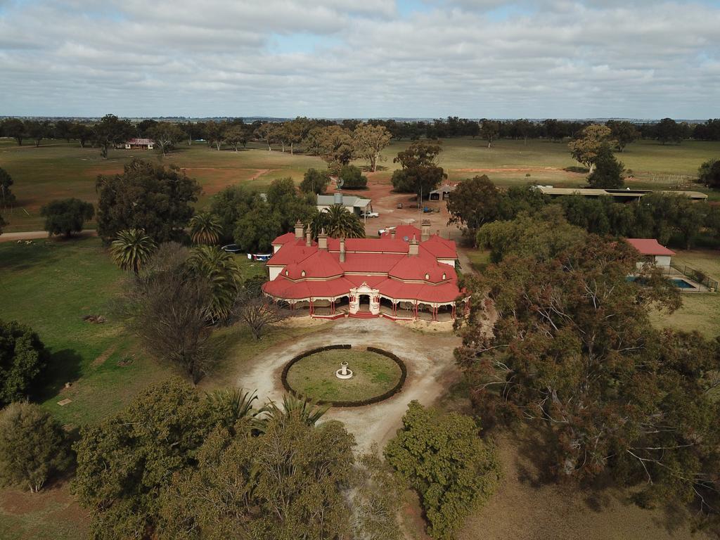
M 123 274 L 98 239 L 0 243 L 0 276 L 1 317 L 30 325 L 52 353 L 40 397 L 63 423 L 103 418 L 168 374 L 138 354 L 110 315 Z M 86 323 L 84 315 L 107 323 Z M 66 398 L 73 401 L 58 405 Z

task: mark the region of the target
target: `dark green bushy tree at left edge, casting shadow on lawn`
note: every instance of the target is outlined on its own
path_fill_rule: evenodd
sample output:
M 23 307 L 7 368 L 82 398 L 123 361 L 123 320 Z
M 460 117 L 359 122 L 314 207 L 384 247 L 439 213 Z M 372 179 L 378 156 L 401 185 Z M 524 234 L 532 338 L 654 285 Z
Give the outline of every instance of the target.
M 23 400 L 48 361 L 49 353 L 29 326 L 0 320 L 0 407 Z

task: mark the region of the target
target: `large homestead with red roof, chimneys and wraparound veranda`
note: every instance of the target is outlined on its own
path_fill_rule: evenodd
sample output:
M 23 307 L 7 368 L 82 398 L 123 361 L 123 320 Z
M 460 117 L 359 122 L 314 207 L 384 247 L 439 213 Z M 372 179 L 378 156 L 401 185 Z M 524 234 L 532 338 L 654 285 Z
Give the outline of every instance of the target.
M 297 222 L 277 237 L 265 294 L 312 318 L 452 320 L 460 297 L 452 240 L 400 225 L 380 238 L 312 240 Z

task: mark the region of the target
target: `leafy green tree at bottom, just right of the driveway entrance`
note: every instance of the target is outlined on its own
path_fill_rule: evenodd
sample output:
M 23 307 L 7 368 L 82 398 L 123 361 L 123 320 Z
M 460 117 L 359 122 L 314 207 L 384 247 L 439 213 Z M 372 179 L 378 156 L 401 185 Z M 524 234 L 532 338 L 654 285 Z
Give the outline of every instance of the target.
M 441 416 L 415 400 L 384 454 L 420 495 L 435 539 L 451 539 L 464 518 L 490 498 L 500 477 L 495 449 L 482 441 L 472 418 Z

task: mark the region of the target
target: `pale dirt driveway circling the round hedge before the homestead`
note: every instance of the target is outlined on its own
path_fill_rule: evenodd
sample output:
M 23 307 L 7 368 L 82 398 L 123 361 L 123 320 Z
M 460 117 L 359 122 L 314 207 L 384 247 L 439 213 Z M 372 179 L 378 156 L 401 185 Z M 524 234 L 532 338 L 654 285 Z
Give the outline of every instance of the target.
M 384 319 L 341 319 L 289 346 L 284 343 L 264 351 L 264 360 L 253 362 L 253 367 L 238 377 L 238 387 L 257 390 L 261 400 L 268 397 L 281 401 L 283 366 L 302 351 L 334 343 L 384 348 L 400 356 L 408 367 L 405 386 L 389 400 L 366 407 L 333 408 L 325 415 L 345 424 L 354 434 L 359 451 L 369 450 L 372 444 L 382 448 L 400 427 L 408 402 L 431 405 L 459 377 L 452 356 L 459 338 L 451 332 L 419 332 Z

